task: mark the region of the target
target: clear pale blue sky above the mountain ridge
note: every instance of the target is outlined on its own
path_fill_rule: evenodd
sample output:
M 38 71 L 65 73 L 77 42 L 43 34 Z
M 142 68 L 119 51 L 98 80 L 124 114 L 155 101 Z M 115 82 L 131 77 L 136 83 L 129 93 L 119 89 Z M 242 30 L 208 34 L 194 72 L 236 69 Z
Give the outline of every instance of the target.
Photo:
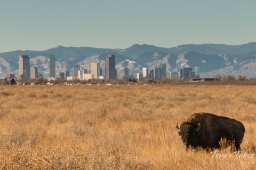
M 256 1 L 1 0 L 0 52 L 256 42 Z

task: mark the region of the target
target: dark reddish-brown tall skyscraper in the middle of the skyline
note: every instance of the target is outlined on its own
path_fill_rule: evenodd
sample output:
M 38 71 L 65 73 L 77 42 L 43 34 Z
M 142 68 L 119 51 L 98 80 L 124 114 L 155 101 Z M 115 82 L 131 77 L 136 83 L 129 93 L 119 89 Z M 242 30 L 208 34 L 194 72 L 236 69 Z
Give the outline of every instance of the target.
M 116 78 L 116 63 L 115 55 L 108 55 L 106 57 L 106 79 Z

